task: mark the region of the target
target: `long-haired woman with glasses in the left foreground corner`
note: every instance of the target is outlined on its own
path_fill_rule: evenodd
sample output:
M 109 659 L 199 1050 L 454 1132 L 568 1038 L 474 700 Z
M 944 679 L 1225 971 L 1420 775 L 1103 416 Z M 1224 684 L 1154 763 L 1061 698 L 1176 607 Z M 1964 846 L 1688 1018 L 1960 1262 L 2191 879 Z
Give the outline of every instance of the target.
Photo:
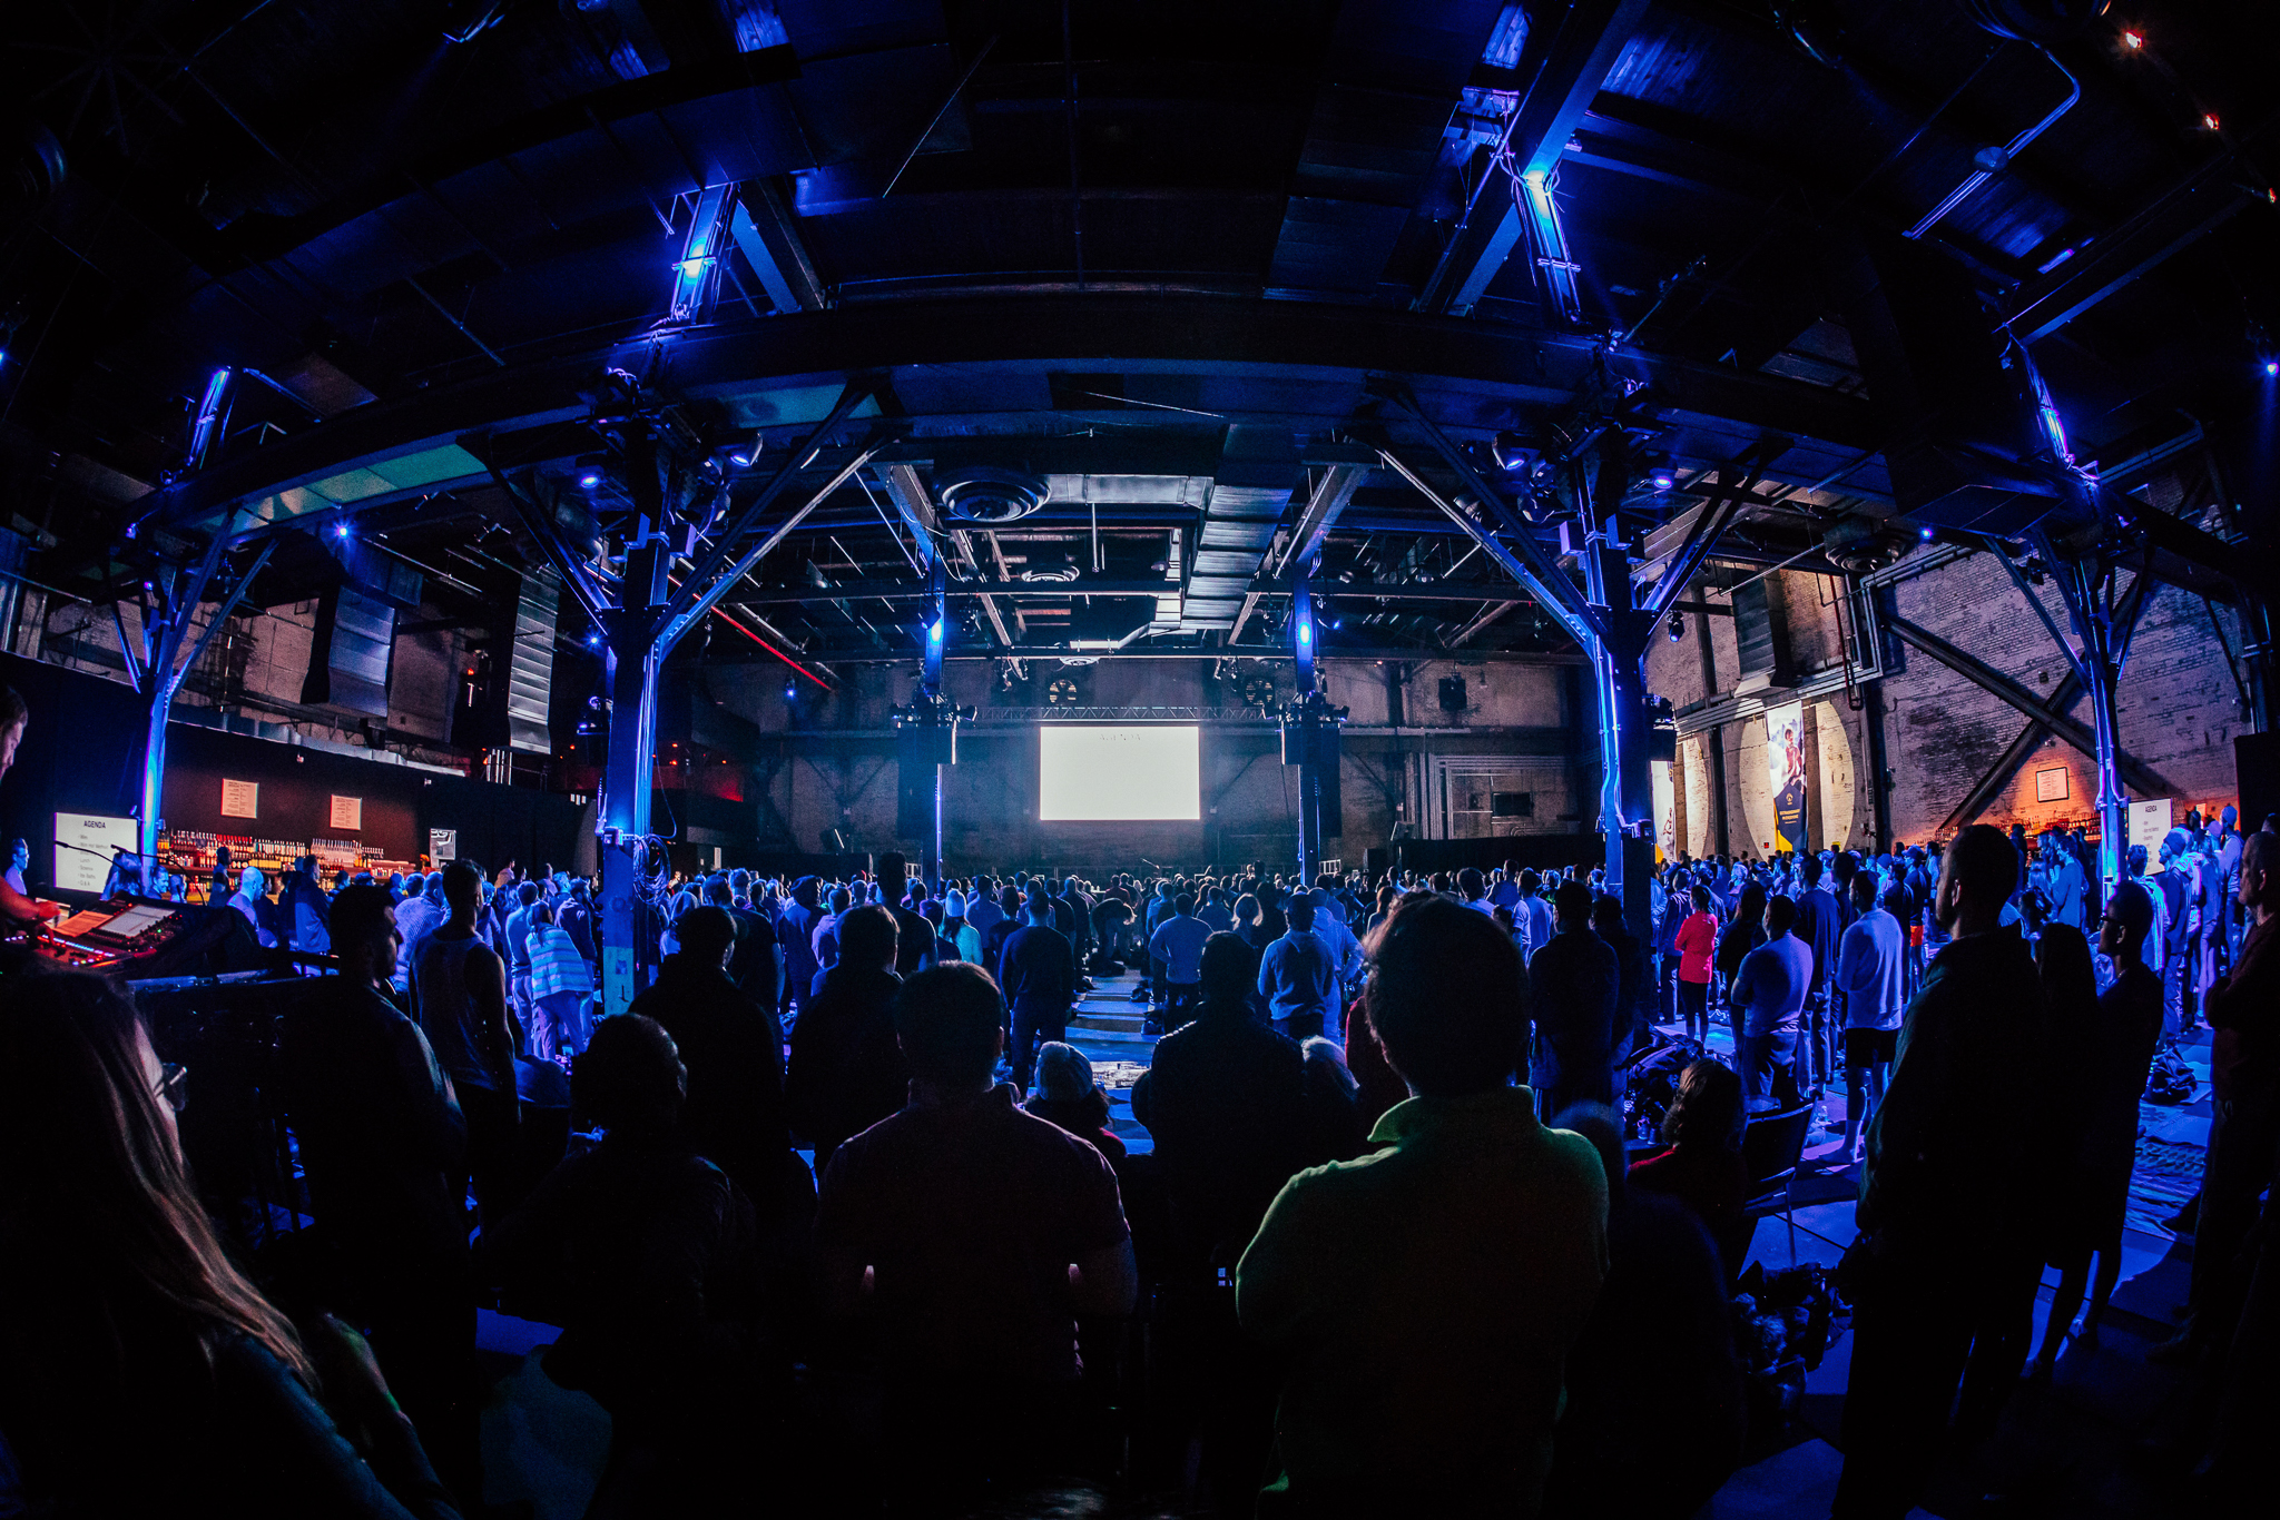
M 454 1518 L 363 1340 L 337 1319 L 303 1340 L 230 1265 L 182 1162 L 185 1080 L 100 978 L 7 989 L 0 1433 L 18 1497 L 59 1515 Z

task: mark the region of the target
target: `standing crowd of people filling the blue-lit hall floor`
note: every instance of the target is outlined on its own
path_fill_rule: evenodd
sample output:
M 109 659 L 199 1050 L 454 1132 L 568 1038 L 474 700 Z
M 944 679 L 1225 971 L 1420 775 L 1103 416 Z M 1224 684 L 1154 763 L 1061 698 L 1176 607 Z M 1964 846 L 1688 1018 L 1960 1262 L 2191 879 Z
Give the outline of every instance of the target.
M 337 966 L 274 1073 L 315 1244 L 251 1258 L 210 1221 L 196 1073 L 107 982 L 11 984 L 0 1511 L 481 1513 L 490 1306 L 559 1326 L 547 1376 L 609 1411 L 595 1515 L 964 1513 L 1149 1452 L 1229 1515 L 1689 1515 L 1742 1456 L 1744 1133 L 1842 1057 L 1835 1513 L 1897 1518 L 2095 1340 L 2145 1064 L 2202 1016 L 2173 1351 L 2225 1477 L 2271 1413 L 2280 839 L 2191 823 L 2111 893 L 2079 841 L 2029 866 L 1984 825 L 1674 859 L 1637 932 L 1589 868 L 727 871 L 673 882 L 618 1016 L 593 882 L 301 861 L 262 927 L 249 871 L 239 912 Z M 1069 1039 L 1124 973 L 1161 1032 L 1147 1153 Z M 1639 1135 L 1623 1071 L 1671 1041 Z

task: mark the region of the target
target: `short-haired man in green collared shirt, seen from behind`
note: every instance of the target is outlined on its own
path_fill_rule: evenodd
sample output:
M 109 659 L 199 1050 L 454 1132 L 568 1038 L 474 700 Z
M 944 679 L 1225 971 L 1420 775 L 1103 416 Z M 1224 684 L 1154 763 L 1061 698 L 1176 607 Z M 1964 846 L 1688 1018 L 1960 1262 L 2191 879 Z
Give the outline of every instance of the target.
M 1290 1178 L 1236 1269 L 1243 1329 L 1288 1360 L 1261 1515 L 1534 1515 L 1607 1176 L 1509 1085 L 1521 966 L 1487 916 L 1404 900 L 1366 998 L 1414 1096 L 1379 1151 Z

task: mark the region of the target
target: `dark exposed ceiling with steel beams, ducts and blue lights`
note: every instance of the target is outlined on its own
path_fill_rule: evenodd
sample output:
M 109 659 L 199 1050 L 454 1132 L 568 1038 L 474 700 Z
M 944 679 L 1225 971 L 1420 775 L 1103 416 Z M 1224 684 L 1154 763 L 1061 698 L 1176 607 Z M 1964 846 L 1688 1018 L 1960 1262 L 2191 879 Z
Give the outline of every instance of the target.
M 1936 365 L 1863 328 L 1938 287 L 2114 483 L 2180 440 L 2253 453 L 2280 14 L 1988 25 L 2098 9 L 57 0 L 0 52 L 66 166 L 11 128 L 0 490 L 82 595 L 223 524 L 353 520 L 477 618 L 534 520 L 606 572 L 686 517 L 702 558 L 768 481 L 755 536 L 866 451 L 714 654 L 912 656 L 928 545 L 969 654 L 1265 652 L 1316 554 L 1325 654 L 1555 654 L 1434 501 L 1468 492 L 1436 431 L 1548 554 L 1621 433 L 1642 579 L 1721 506 L 1710 574 L 2013 533 L 2066 499 L 2050 444 L 1972 419 L 1979 495 L 1922 488 L 1908 417 L 1961 458 Z M 595 426 L 636 406 L 661 465 Z M 2216 549 L 2148 545 L 2225 595 Z M 287 565 L 324 556 L 258 593 Z

